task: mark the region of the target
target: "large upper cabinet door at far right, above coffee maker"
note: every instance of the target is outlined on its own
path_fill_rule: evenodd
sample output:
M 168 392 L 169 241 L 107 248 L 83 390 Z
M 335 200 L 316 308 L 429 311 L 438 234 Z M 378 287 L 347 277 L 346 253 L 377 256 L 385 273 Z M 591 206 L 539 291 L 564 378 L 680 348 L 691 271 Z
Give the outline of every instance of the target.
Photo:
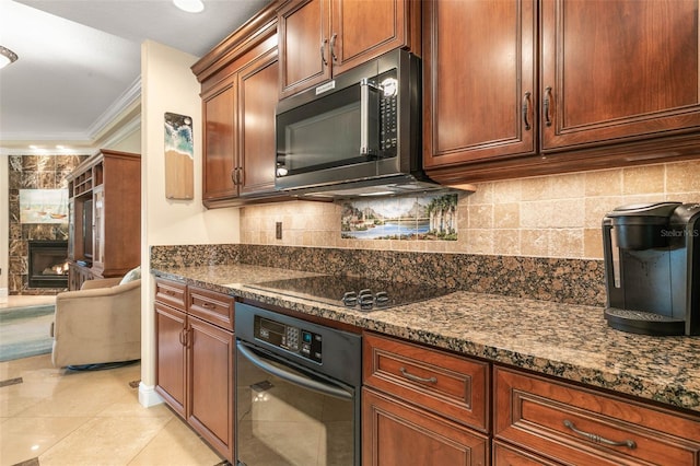
M 542 0 L 542 149 L 700 126 L 698 0 Z

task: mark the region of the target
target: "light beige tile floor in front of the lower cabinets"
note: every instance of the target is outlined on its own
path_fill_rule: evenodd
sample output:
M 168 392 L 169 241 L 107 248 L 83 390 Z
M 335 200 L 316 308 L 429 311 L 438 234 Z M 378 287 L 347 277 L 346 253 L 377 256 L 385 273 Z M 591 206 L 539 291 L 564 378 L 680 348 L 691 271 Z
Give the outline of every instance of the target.
M 139 404 L 140 377 L 140 364 L 70 371 L 50 354 L 0 362 L 0 466 L 222 464 L 165 405 Z

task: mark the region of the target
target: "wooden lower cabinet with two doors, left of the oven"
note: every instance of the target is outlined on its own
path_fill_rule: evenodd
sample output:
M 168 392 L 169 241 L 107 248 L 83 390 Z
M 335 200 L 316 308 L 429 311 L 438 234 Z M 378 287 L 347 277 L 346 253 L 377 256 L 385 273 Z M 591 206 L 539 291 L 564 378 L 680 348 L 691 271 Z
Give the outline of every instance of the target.
M 160 279 L 155 288 L 155 391 L 210 446 L 234 463 L 233 321 L 225 328 L 201 317 L 207 315 L 202 310 L 233 315 L 233 298 Z

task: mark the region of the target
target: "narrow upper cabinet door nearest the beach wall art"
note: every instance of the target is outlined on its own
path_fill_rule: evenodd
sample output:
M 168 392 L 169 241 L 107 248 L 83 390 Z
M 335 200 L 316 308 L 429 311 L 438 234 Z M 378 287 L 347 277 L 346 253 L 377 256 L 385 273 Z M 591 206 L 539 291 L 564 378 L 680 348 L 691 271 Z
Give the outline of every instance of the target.
M 202 97 L 205 123 L 202 197 L 221 199 L 235 197 L 235 105 L 236 82 L 231 80 Z

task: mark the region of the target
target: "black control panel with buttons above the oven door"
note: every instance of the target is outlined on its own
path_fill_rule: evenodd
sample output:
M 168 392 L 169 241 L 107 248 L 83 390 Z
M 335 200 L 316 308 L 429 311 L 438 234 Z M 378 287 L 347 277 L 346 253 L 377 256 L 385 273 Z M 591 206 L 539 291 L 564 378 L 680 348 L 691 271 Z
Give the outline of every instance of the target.
M 254 325 L 255 338 L 314 362 L 320 363 L 323 361 L 323 338 L 319 334 L 281 324 L 259 315 L 255 316 Z

